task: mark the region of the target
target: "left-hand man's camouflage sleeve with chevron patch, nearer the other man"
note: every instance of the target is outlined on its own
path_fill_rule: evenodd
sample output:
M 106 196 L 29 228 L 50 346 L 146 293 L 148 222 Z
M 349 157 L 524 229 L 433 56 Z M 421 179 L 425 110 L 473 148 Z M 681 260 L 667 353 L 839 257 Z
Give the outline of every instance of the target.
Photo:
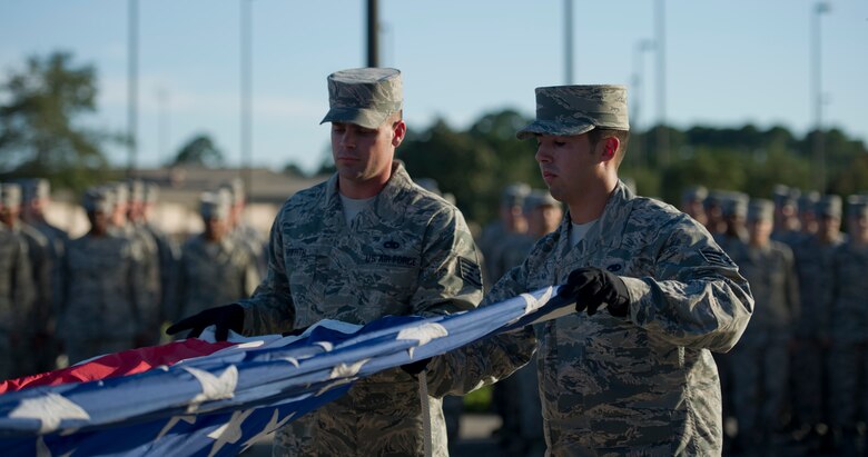
M 453 208 L 436 212 L 426 230 L 416 290 L 411 304 L 420 316 L 475 308 L 482 300 L 476 245 L 464 217 Z

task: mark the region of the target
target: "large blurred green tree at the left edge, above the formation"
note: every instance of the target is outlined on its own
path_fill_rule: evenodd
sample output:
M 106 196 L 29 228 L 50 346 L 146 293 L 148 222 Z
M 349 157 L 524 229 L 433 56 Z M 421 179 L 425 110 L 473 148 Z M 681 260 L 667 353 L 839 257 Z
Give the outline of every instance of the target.
M 111 173 L 100 146 L 119 135 L 79 125 L 96 110 L 97 77 L 68 52 L 31 57 L 0 85 L 0 171 L 81 190 Z

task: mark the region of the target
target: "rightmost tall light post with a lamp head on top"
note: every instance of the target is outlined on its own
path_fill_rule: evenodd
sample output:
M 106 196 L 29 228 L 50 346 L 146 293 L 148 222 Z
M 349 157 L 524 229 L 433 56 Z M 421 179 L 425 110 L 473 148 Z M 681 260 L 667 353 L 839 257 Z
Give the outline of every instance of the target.
M 822 136 L 822 48 L 820 46 L 820 18 L 829 12 L 829 3 L 818 2 L 811 14 L 811 99 L 813 101 L 813 162 L 815 187 L 819 192 L 826 191 L 826 145 Z

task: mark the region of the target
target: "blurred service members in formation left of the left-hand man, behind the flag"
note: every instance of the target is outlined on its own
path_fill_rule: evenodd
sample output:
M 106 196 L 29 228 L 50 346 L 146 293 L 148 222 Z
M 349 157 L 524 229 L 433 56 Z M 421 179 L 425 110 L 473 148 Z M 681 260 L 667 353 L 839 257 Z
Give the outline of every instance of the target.
M 239 181 L 203 195 L 205 229 L 180 246 L 151 220 L 154 183 L 88 189 L 89 230 L 76 239 L 46 220 L 47 180 L 0 189 L 2 379 L 159 344 L 165 322 L 249 296 L 265 268 L 265 237 L 240 219 Z

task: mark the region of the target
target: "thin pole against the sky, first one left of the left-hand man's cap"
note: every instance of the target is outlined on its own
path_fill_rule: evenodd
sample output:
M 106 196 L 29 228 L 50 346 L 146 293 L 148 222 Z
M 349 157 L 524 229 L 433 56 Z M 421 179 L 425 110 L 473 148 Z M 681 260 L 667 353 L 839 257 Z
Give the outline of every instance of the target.
M 250 196 L 253 190 L 253 140 L 251 140 L 251 119 L 250 109 L 251 92 L 251 67 L 253 67 L 253 14 L 250 11 L 253 0 L 241 0 L 240 7 L 240 48 L 241 48 L 241 167 L 244 168 L 244 190 L 245 195 Z

